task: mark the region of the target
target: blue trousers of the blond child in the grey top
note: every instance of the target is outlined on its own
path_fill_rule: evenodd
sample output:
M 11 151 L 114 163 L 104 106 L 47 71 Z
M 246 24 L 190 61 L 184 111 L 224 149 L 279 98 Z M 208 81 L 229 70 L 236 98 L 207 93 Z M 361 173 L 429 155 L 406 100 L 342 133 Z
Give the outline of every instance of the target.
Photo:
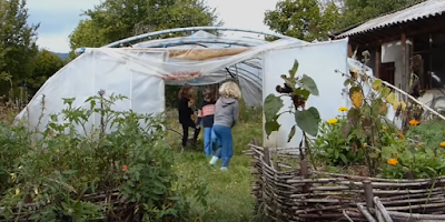
M 214 125 L 214 132 L 218 143 L 216 157 L 222 161 L 222 167 L 228 167 L 234 155 L 231 129 L 224 125 Z

